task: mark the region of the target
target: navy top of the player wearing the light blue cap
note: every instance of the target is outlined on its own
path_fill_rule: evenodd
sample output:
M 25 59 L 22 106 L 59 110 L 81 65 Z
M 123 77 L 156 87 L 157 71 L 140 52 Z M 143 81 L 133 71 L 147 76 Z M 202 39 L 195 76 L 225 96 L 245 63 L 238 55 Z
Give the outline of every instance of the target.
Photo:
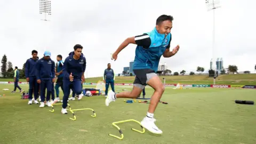
M 36 63 L 36 79 L 53 79 L 55 77 L 55 62 L 51 59 L 39 59 Z

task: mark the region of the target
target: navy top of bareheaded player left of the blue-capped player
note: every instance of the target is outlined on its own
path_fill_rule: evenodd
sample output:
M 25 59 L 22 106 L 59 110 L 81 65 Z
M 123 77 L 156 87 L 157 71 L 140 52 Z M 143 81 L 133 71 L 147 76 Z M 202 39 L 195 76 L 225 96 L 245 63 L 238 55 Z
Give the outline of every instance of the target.
M 28 59 L 25 63 L 25 76 L 26 78 L 31 76 L 36 76 L 36 62 L 37 59 L 34 60 L 32 58 Z

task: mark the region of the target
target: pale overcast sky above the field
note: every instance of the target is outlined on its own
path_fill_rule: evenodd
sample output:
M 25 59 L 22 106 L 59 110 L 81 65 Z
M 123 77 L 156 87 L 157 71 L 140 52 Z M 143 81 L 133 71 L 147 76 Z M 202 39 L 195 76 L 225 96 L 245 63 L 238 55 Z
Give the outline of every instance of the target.
M 223 64 L 237 65 L 238 71 L 254 71 L 256 64 L 256 20 L 253 0 L 221 1 L 215 11 L 216 57 Z M 254 13 L 254 14 L 253 14 Z M 86 77 L 102 76 L 110 62 L 115 73 L 134 60 L 131 44 L 110 60 L 124 39 L 151 31 L 159 15 L 172 15 L 171 49 L 180 51 L 161 58 L 173 72 L 210 68 L 212 57 L 213 12 L 207 12 L 204 0 L 52 0 L 51 21 L 41 21 L 39 0 L 0 0 L 0 56 L 6 54 L 13 66 L 22 65 L 37 50 L 39 58 L 49 50 L 52 59 L 63 59 L 81 44 L 87 60 Z

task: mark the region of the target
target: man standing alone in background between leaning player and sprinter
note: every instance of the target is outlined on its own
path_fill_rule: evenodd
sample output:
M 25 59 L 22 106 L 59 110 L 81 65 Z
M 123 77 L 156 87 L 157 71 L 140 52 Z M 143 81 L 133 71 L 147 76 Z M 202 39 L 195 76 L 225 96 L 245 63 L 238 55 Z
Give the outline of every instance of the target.
M 115 82 L 115 73 L 114 70 L 111 69 L 111 64 L 108 63 L 108 68 L 105 69 L 104 75 L 103 75 L 103 81 L 106 83 L 106 90 L 105 90 L 105 97 L 108 95 L 108 87 L 109 84 L 111 86 L 111 89 L 113 92 L 115 92 L 114 82 Z

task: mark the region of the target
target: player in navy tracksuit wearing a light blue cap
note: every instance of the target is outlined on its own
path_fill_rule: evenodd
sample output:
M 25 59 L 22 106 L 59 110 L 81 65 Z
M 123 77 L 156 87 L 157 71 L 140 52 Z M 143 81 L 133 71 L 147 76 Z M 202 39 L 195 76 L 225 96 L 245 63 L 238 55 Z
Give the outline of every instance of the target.
M 39 107 L 44 107 L 45 101 L 45 89 L 47 89 L 46 105 L 51 107 L 50 102 L 52 83 L 55 79 L 55 62 L 51 60 L 51 53 L 49 51 L 44 52 L 44 57 L 39 59 L 36 63 L 36 79 L 40 84 L 41 91 L 41 104 Z

